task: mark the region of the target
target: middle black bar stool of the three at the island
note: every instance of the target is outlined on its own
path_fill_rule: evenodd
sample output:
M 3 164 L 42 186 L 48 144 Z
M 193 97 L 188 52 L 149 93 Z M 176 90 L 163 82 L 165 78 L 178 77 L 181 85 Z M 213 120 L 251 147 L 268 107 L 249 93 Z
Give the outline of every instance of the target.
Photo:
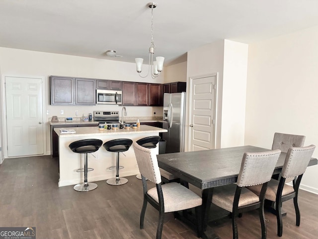
M 127 178 L 119 177 L 119 153 L 125 152 L 129 149 L 133 140 L 129 138 L 118 138 L 109 140 L 103 144 L 103 147 L 109 152 L 117 152 L 117 161 L 116 161 L 116 178 L 110 178 L 106 181 L 109 185 L 122 185 L 128 182 Z

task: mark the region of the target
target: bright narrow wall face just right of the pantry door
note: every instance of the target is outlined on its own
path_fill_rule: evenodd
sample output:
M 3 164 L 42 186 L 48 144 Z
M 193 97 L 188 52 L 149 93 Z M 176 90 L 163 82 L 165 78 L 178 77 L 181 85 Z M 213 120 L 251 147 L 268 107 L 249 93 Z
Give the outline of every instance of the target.
M 221 147 L 244 145 L 248 45 L 224 41 Z

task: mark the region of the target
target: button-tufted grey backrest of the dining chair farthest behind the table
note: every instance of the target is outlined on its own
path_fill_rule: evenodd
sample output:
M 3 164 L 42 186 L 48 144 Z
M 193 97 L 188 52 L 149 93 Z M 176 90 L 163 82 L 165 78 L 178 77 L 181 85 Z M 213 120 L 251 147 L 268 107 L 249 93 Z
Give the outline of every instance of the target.
M 287 133 L 275 133 L 273 139 L 272 149 L 280 149 L 282 152 L 287 153 L 291 147 L 303 147 L 306 136 L 287 134 Z

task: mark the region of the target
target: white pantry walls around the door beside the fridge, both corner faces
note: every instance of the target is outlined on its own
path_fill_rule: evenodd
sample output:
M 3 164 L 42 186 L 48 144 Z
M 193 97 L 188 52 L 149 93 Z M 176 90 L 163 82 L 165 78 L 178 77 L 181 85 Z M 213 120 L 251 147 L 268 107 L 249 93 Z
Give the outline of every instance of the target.
M 222 40 L 188 52 L 187 80 L 218 73 L 217 148 L 244 145 L 247 51 L 247 44 Z M 189 83 L 187 85 L 189 86 Z M 188 99 L 187 94 L 189 105 Z M 188 118 L 187 111 L 186 126 Z M 187 139 L 188 130 L 186 145 Z

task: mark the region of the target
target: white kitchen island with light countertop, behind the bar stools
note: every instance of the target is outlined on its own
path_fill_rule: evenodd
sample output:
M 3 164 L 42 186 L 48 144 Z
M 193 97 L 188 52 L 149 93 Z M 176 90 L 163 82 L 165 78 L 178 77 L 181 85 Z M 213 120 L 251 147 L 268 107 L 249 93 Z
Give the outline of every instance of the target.
M 81 140 L 96 138 L 105 143 L 106 141 L 116 138 L 130 138 L 133 141 L 138 139 L 159 135 L 160 132 L 166 132 L 166 129 L 154 127 L 150 125 L 141 125 L 141 127 L 133 129 L 104 129 L 99 130 L 98 126 L 92 127 L 68 127 L 67 130 L 75 130 L 75 133 L 61 133 L 63 128 L 54 128 L 59 137 L 59 187 L 74 185 L 84 181 L 84 174 L 78 173 L 76 170 L 83 168 L 84 155 L 74 153 L 69 144 Z M 156 149 L 159 152 L 159 147 Z M 108 152 L 103 146 L 98 151 L 88 153 L 87 164 L 93 171 L 87 174 L 88 182 L 100 181 L 114 178 L 116 170 L 109 169 L 116 165 L 116 153 Z M 128 151 L 120 154 L 119 164 L 124 168 L 119 170 L 121 177 L 131 176 L 139 173 L 135 153 L 133 147 Z

